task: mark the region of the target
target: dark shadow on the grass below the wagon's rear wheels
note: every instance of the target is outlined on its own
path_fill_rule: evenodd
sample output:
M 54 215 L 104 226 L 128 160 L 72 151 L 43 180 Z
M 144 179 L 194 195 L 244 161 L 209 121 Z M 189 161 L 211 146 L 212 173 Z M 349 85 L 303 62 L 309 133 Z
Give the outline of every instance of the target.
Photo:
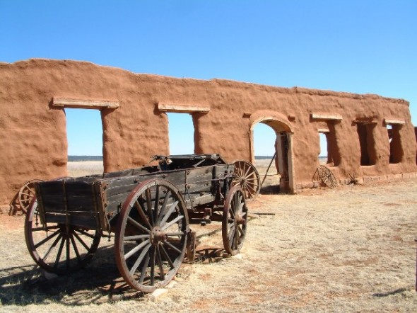
M 31 305 L 59 302 L 88 305 L 118 300 L 144 300 L 143 292 L 132 290 L 120 277 L 113 246 L 99 248 L 86 268 L 65 276 L 42 273 L 37 266 L 4 268 L 0 275 L 2 305 Z

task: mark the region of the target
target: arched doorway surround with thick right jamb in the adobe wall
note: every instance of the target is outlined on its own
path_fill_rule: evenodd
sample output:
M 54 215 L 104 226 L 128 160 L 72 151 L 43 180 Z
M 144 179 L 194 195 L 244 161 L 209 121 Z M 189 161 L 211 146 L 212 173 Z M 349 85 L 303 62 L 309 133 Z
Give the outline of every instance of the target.
M 252 115 L 253 116 L 253 115 Z M 254 127 L 262 123 L 271 127 L 276 133 L 275 141 L 275 162 L 274 165 L 281 176 L 279 183 L 280 192 L 293 193 L 295 189 L 295 173 L 293 167 L 293 130 L 292 127 L 283 121 L 279 115 L 262 115 L 252 118 L 250 127 L 250 149 L 251 162 L 254 163 Z M 261 178 L 261 181 L 263 178 Z

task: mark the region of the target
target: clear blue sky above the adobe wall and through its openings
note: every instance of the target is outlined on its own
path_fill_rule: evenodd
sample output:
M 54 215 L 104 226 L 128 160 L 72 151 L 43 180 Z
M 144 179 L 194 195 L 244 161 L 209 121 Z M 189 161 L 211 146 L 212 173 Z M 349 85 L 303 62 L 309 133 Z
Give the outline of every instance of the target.
M 410 101 L 413 125 L 416 56 L 416 0 L 0 0 L 2 62 L 75 59 L 136 73 L 377 93 Z M 100 115 L 90 114 L 67 112 L 69 154 L 101 154 Z M 89 123 L 83 119 L 95 121 L 97 136 L 84 146 L 86 130 L 76 133 Z M 170 117 L 171 152 L 192 152 L 192 136 L 175 123 L 191 119 Z M 255 130 L 255 154 L 273 153 L 268 130 Z

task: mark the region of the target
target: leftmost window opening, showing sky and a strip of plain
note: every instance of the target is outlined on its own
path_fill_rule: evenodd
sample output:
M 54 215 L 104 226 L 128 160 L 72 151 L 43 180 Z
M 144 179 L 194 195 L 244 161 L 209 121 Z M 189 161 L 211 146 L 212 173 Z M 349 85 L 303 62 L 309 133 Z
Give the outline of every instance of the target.
M 103 172 L 100 110 L 65 108 L 69 176 Z

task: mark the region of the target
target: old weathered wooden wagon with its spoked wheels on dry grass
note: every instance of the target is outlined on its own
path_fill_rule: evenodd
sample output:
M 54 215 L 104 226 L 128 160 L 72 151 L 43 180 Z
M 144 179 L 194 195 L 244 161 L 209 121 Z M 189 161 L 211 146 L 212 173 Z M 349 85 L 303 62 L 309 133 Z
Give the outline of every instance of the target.
M 158 165 L 35 183 L 25 239 L 38 266 L 59 275 L 93 258 L 101 237 L 114 233 L 117 268 L 143 292 L 167 285 L 194 259 L 190 222 L 222 222 L 224 249 L 240 251 L 247 230 L 246 198 L 259 175 L 246 161 L 218 154 L 155 156 Z

